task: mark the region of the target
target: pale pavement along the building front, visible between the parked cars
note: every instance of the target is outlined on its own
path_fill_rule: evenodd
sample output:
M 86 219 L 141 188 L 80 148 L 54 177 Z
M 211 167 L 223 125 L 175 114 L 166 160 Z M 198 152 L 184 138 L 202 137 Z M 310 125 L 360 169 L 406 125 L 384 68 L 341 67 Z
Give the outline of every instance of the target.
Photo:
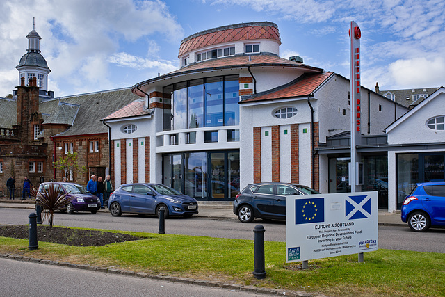
M 232 211 L 233 202 L 198 201 L 199 214 L 204 218 L 236 218 Z M 7 200 L 0 199 L 0 208 L 34 209 L 33 200 Z M 108 209 L 100 209 L 99 212 L 109 212 Z M 378 225 L 380 226 L 406 226 L 401 220 L 400 211 L 394 213 L 385 209 L 378 210 Z

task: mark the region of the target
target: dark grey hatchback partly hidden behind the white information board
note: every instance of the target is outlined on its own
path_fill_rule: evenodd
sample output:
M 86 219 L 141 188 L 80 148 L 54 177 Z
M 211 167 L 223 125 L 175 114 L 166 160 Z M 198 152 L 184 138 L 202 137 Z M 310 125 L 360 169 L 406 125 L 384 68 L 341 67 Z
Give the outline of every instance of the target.
M 254 218 L 285 220 L 286 196 L 312 194 L 319 192 L 300 184 L 249 184 L 236 195 L 234 214 L 241 223 L 250 223 Z

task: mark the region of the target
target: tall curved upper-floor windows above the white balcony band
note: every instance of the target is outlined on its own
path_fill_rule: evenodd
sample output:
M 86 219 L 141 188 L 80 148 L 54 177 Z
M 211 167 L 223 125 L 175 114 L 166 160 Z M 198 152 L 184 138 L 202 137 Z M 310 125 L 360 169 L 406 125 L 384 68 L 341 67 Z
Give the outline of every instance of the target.
M 163 131 L 239 125 L 238 75 L 208 77 L 163 88 Z

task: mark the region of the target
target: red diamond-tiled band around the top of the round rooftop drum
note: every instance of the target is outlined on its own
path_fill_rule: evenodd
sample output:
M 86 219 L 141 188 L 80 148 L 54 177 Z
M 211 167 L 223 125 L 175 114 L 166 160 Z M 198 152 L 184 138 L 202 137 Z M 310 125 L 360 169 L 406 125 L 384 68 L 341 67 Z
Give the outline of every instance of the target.
M 251 26 L 248 26 L 251 24 Z M 236 27 L 243 24 L 238 24 L 234 26 L 223 26 L 220 27 L 218 31 L 203 31 L 192 35 L 191 38 L 186 38 L 181 42 L 179 47 L 179 54 L 187 53 L 188 51 L 193 51 L 195 49 L 200 49 L 202 47 L 209 47 L 211 45 L 218 45 L 225 42 L 234 42 L 238 40 L 258 40 L 258 39 L 271 39 L 277 40 L 278 44 L 281 45 L 280 33 L 278 33 L 278 28 L 275 26 L 268 26 L 267 24 L 259 24 L 259 26 L 254 26 L 255 23 L 244 24 L 245 26 Z M 217 28 L 218 29 L 218 28 Z

